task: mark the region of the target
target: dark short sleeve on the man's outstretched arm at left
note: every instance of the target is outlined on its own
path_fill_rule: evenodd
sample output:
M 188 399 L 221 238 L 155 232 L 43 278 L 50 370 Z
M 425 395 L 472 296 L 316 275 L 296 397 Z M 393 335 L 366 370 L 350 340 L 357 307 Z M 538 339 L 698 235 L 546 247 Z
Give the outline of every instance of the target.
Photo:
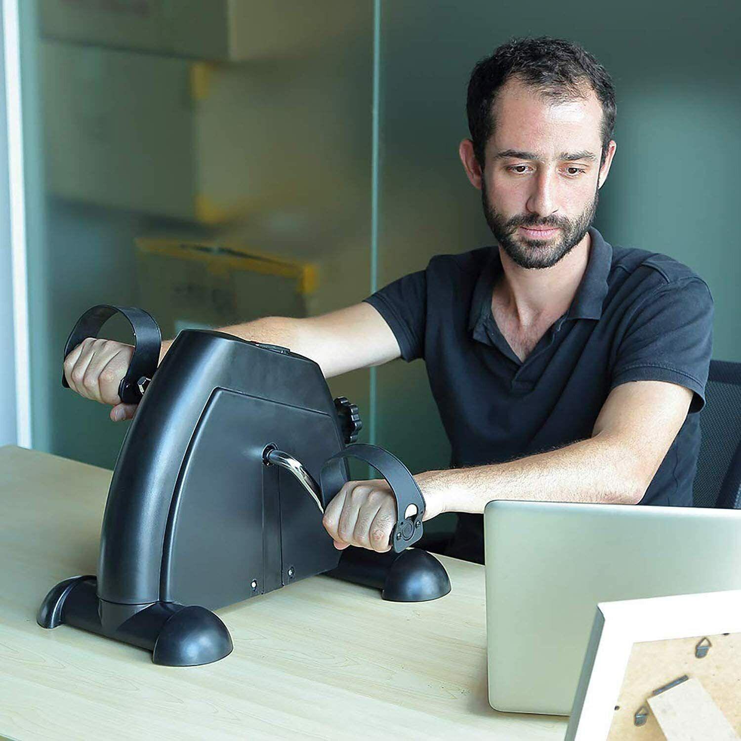
M 424 270 L 410 273 L 368 296 L 370 304 L 385 319 L 407 362 L 425 354 L 427 319 L 427 276 Z

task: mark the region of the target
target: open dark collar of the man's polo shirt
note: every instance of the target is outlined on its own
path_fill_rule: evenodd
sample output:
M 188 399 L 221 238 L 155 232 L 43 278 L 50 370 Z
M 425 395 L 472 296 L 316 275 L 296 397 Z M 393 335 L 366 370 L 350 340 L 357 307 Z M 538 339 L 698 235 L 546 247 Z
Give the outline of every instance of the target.
M 591 237 L 591 249 L 587 269 L 568 309 L 569 319 L 599 319 L 602 316 L 602 305 L 608 292 L 612 245 L 605 242 L 602 234 L 594 227 L 589 227 L 589 236 Z M 479 274 L 473 289 L 468 329 L 473 332 L 474 337 L 484 333 L 485 321 L 488 316 L 491 316 L 491 293 L 501 271 L 502 261 L 499 259 L 499 250 L 497 247 L 492 247 L 488 262 Z

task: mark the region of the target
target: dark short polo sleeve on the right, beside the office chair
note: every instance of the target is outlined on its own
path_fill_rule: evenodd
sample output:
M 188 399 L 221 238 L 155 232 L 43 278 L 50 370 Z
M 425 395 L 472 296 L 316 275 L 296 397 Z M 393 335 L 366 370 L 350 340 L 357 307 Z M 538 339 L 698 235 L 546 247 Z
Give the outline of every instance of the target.
M 664 285 L 637 308 L 622 337 L 611 387 L 668 381 L 694 391 L 689 411 L 705 405 L 713 348 L 713 299 L 699 278 Z

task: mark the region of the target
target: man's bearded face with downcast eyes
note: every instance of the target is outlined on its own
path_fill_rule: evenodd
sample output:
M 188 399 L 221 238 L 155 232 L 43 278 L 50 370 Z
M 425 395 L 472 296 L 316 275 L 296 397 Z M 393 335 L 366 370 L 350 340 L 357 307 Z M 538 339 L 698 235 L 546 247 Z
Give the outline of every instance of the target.
M 522 268 L 555 265 L 584 239 L 597 212 L 612 151 L 600 178 L 602 107 L 594 91 L 585 95 L 554 104 L 516 80 L 499 90 L 482 203 L 499 246 Z

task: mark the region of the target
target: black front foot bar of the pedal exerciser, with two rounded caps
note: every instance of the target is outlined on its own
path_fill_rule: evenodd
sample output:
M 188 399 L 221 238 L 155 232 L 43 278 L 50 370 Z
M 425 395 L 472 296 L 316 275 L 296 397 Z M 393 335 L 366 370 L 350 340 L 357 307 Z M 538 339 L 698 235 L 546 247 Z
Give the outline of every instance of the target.
M 197 666 L 223 659 L 233 649 L 226 625 L 206 608 L 176 602 L 117 605 L 99 599 L 95 576 L 74 576 L 52 588 L 36 622 L 64 622 L 91 633 L 147 648 L 165 666 Z

